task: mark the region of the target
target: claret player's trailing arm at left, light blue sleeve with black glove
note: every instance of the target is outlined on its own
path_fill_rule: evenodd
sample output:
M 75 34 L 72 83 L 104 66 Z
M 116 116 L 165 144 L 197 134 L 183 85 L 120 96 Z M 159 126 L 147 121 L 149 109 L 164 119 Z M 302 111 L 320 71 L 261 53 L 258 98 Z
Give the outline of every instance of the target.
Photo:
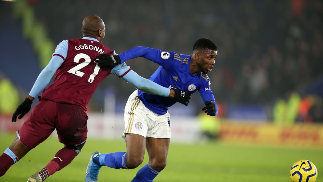
M 16 112 L 12 115 L 12 122 L 16 122 L 18 116 L 18 119 L 23 118 L 25 114 L 30 111 L 31 104 L 33 103 L 33 100 L 35 99 L 36 95 L 47 86 L 50 79 L 54 76 L 56 70 L 60 67 L 62 63 L 63 59 L 59 56 L 52 57 L 48 65 L 38 75 L 38 78 L 35 81 L 34 86 L 31 89 L 28 97 L 17 107 Z

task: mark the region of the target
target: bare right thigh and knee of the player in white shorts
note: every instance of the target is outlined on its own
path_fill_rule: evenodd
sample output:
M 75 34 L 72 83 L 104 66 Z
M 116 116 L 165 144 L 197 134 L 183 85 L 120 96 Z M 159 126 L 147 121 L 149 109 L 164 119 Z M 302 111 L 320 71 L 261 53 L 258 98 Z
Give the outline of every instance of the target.
M 162 163 L 166 165 L 170 141 L 170 138 L 147 137 L 146 148 L 150 163 Z

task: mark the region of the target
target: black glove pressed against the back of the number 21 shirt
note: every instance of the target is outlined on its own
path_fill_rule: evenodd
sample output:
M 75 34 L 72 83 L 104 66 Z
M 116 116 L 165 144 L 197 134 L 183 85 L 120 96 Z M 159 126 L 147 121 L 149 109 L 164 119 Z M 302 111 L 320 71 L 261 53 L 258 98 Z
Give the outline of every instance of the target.
M 118 64 L 121 63 L 120 56 L 112 55 L 112 54 L 100 54 L 97 56 L 99 60 L 95 60 L 95 63 L 98 63 L 98 66 L 102 68 L 102 70 L 112 69 Z

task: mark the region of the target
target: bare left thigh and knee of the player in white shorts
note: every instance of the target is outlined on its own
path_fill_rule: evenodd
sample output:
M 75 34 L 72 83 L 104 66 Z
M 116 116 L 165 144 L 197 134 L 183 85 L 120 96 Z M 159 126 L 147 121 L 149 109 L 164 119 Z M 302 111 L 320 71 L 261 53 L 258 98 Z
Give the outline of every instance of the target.
M 127 160 L 138 159 L 142 162 L 145 155 L 146 138 L 139 134 L 126 134 Z

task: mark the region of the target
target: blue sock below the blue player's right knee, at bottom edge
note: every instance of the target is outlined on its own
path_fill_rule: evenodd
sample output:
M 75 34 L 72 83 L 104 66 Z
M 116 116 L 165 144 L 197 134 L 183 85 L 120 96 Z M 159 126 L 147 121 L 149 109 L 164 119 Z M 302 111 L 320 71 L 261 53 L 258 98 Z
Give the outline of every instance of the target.
M 139 169 L 137 175 L 131 180 L 131 182 L 152 182 L 159 173 L 160 171 L 155 170 L 148 163 Z

